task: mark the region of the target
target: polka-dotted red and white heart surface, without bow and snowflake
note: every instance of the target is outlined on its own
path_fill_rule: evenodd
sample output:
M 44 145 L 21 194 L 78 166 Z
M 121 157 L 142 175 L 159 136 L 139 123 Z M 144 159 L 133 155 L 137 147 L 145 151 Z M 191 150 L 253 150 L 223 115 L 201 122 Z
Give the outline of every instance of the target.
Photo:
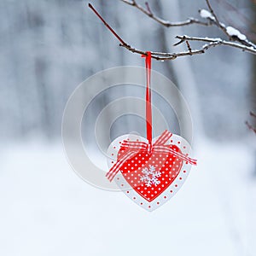
M 154 138 L 153 143 L 156 139 Z M 125 154 L 125 150 L 120 151 L 120 144 L 124 140 L 147 142 L 145 138 L 137 135 L 123 135 L 116 138 L 108 148 L 109 168 L 113 166 L 122 154 Z M 176 148 L 176 150 L 183 154 L 189 155 L 190 145 L 183 137 L 173 134 L 172 140 L 170 139 L 166 144 L 170 145 L 170 147 L 172 146 L 173 149 Z M 166 153 L 158 154 L 154 152 L 153 154 L 148 155 L 139 152 L 128 160 L 126 165 L 122 167 L 122 170 L 114 177 L 114 181 L 119 186 L 119 189 L 131 201 L 137 203 L 138 206 L 143 207 L 148 212 L 154 211 L 169 201 L 173 195 L 176 195 L 177 191 L 183 186 L 191 168 L 184 161 L 177 160 Z M 128 163 L 130 166 L 128 166 Z M 141 180 L 143 169 L 149 165 L 154 166 L 156 171 L 164 172 L 161 173 L 159 177 L 160 183 L 157 186 L 148 187 Z

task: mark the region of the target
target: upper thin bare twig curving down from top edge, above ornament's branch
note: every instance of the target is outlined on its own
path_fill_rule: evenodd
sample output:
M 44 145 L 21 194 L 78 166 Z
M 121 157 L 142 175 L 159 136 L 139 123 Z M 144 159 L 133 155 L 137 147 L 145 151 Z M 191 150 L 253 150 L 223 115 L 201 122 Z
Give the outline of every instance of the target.
M 210 22 L 203 22 L 201 20 L 197 20 L 195 18 L 189 18 L 188 20 L 184 20 L 184 21 L 177 21 L 177 22 L 170 22 L 168 20 L 163 20 L 160 17 L 157 17 L 156 15 L 153 14 L 153 12 L 151 11 L 149 4 L 146 3 L 146 9 L 143 8 L 142 5 L 138 4 L 136 1 L 134 0 L 120 0 L 123 3 L 129 4 L 131 6 L 134 6 L 136 9 L 139 9 L 141 12 L 143 12 L 143 14 L 148 15 L 149 18 L 157 21 L 158 23 L 160 23 L 163 26 L 166 27 L 171 27 L 171 26 L 188 26 L 191 24 L 199 24 L 202 26 L 209 26 Z

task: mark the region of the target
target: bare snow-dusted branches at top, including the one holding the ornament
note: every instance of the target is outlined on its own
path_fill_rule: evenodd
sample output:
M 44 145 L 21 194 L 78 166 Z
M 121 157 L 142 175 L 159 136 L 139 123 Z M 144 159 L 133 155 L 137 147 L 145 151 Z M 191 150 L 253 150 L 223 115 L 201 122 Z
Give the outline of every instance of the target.
M 232 26 L 225 26 L 223 23 L 219 22 L 217 15 L 214 13 L 212 6 L 209 2 L 209 0 L 206 0 L 207 6 L 209 10 L 201 9 L 199 10 L 199 13 L 201 15 L 202 19 L 207 19 L 207 22 L 202 22 L 200 20 L 196 20 L 194 18 L 190 18 L 189 20 L 185 21 L 178 21 L 178 22 L 170 22 L 167 20 L 162 20 L 159 17 L 155 16 L 150 9 L 150 6 L 148 3 L 145 4 L 145 8 L 137 3 L 135 0 L 120 0 L 124 3 L 127 3 L 131 6 L 136 7 L 137 9 L 141 10 L 145 15 L 148 15 L 148 17 L 152 18 L 153 20 L 156 20 L 163 26 L 171 27 L 171 26 L 187 26 L 193 23 L 197 23 L 204 26 L 210 26 L 215 25 L 218 26 L 219 29 L 221 29 L 224 34 L 228 37 L 228 40 L 224 40 L 222 38 L 198 38 L 198 37 L 189 37 L 189 36 L 177 36 L 176 38 L 180 41 L 177 42 L 177 44 L 174 44 L 174 46 L 178 44 L 186 44 L 188 50 L 177 52 L 177 53 L 166 53 L 166 52 L 151 52 L 152 58 L 157 61 L 168 61 L 168 60 L 175 60 L 177 57 L 182 56 L 188 56 L 188 55 L 199 55 L 204 54 L 207 49 L 216 47 L 216 46 L 229 46 L 236 49 L 241 49 L 242 51 L 249 52 L 253 55 L 256 55 L 256 45 L 250 42 L 247 37 L 239 32 L 236 28 Z M 113 28 L 107 23 L 106 20 L 102 18 L 102 16 L 94 9 L 94 7 L 89 3 L 90 9 L 94 11 L 94 13 L 98 16 L 100 20 L 102 20 L 103 24 L 107 26 L 108 30 L 113 33 L 113 36 L 119 40 L 119 46 L 124 47 L 125 49 L 128 49 L 132 53 L 136 53 L 139 55 L 147 55 L 146 50 L 142 49 L 136 49 L 132 47 L 130 44 L 126 43 L 123 38 L 119 36 L 117 32 L 113 30 Z M 200 49 L 192 49 L 189 42 L 190 41 L 197 41 L 197 42 L 205 42 Z

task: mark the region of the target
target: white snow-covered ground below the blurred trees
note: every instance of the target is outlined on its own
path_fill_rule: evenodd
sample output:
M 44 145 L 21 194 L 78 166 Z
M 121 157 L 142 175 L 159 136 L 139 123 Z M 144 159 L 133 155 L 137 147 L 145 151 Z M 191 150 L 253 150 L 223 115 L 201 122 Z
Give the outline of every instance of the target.
M 255 255 L 253 154 L 201 142 L 187 182 L 155 212 L 84 183 L 61 143 L 2 148 L 0 255 Z

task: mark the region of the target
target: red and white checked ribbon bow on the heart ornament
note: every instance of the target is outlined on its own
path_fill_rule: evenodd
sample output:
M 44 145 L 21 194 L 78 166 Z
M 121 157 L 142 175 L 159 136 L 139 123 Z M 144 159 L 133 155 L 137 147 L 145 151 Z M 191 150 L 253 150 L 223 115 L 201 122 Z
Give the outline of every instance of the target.
M 165 145 L 165 143 L 172 137 L 172 133 L 170 131 L 164 131 L 160 137 L 156 140 L 156 142 L 151 145 L 150 143 L 143 142 L 130 142 L 125 140 L 119 150 L 125 151 L 119 160 L 111 167 L 108 171 L 106 177 L 108 177 L 109 181 L 113 180 L 113 177 L 119 172 L 120 168 L 125 164 L 126 160 L 131 159 L 133 156 L 138 154 L 138 152 L 142 153 L 166 153 L 172 154 L 173 156 L 179 158 L 180 160 L 184 160 L 188 162 L 190 165 L 196 165 L 196 160 L 189 158 L 188 156 L 175 151 L 170 148 L 170 145 Z

